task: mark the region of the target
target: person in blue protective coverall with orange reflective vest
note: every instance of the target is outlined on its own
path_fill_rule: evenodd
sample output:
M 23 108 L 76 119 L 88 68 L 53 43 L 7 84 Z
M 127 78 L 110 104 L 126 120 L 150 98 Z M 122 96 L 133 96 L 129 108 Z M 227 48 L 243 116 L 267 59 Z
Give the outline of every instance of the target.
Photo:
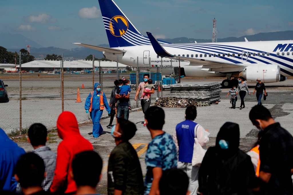
M 106 111 L 108 111 L 110 114 L 111 108 L 108 104 L 105 94 L 101 92 L 101 84 L 95 83 L 94 91 L 88 95 L 84 105 L 86 113 L 90 113 L 91 119 L 93 121 L 93 137 L 100 137 L 101 133 L 103 132 L 100 120 L 105 108 Z

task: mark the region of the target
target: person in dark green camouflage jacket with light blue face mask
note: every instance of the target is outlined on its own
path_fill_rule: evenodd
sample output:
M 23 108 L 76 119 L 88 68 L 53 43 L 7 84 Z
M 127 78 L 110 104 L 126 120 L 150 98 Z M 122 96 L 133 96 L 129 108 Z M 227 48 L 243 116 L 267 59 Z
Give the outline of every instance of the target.
M 108 194 L 142 195 L 144 182 L 142 169 L 135 149 L 129 143 L 136 132 L 134 123 L 119 119 L 112 127 L 116 147 L 110 154 L 108 163 Z

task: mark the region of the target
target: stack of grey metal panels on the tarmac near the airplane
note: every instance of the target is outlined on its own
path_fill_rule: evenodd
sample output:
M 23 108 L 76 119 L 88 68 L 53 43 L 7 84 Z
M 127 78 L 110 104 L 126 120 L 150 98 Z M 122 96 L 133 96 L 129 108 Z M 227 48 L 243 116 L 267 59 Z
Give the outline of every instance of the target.
M 221 99 L 221 84 L 219 82 L 194 84 L 189 82 L 171 86 L 171 97 L 191 99 L 206 103 L 214 103 Z

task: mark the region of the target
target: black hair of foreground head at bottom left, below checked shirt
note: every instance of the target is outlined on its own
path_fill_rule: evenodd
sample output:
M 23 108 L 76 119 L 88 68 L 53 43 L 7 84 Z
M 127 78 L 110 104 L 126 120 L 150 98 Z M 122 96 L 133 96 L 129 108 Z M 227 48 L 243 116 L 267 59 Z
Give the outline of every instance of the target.
M 18 159 L 15 173 L 22 188 L 41 187 L 45 174 L 44 161 L 38 154 L 25 153 Z

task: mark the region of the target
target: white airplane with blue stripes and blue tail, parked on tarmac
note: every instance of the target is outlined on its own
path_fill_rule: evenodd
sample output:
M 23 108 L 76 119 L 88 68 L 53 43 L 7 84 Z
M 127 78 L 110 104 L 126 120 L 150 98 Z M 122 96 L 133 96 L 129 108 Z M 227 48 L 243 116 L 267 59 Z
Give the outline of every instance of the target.
M 226 77 L 224 87 L 239 76 L 271 83 L 293 76 L 293 41 L 171 44 L 142 35 L 113 0 L 98 0 L 110 48 L 74 43 L 102 51 L 105 58 L 137 67 L 178 67 L 187 77 Z M 143 60 L 142 60 L 143 59 Z M 168 71 L 170 72 L 170 71 Z M 231 80 L 231 78 L 234 79 Z

